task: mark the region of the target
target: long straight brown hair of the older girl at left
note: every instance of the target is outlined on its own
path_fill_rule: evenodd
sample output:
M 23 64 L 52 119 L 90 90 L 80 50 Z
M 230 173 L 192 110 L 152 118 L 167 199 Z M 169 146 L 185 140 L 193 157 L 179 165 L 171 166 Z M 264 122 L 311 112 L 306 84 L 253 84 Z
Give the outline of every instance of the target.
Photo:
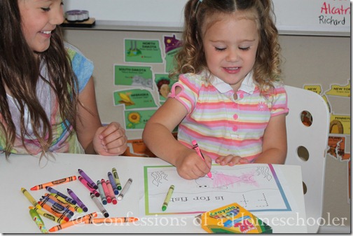
M 18 101 L 20 110 L 20 137 L 25 146 L 25 106 L 28 107 L 30 122 L 34 135 L 39 141 L 43 153 L 52 144 L 53 134 L 50 117 L 36 97 L 36 84 L 39 79 L 47 83 L 56 94 L 60 116 L 67 130 L 70 125 L 76 130 L 77 78 L 71 69 L 69 55 L 64 48 L 62 32 L 57 27 L 50 39 L 50 47 L 43 53 L 34 55 L 22 34 L 20 10 L 18 0 L 0 1 L 0 135 L 6 137 L 4 151 L 6 158 L 10 155 L 16 136 L 15 124 L 8 106 L 6 90 L 13 99 Z M 6 33 L 5 33 L 6 32 Z M 50 81 L 40 74 L 40 64 L 47 67 Z M 41 127 L 41 128 L 40 128 Z

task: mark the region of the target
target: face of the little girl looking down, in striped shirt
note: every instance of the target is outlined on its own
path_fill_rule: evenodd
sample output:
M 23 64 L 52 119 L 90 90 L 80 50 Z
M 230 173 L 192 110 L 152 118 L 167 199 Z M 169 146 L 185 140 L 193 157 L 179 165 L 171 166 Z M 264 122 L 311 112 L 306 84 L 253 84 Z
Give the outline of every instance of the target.
M 203 46 L 207 67 L 214 76 L 236 92 L 253 69 L 258 48 L 258 29 L 254 15 L 247 12 L 219 14 L 205 23 Z

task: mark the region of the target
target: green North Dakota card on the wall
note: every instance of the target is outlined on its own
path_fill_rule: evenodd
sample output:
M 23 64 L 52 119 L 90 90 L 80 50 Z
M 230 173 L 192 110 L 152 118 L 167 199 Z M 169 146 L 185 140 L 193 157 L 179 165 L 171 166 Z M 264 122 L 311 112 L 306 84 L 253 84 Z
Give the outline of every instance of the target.
M 125 62 L 162 63 L 159 40 L 125 39 Z

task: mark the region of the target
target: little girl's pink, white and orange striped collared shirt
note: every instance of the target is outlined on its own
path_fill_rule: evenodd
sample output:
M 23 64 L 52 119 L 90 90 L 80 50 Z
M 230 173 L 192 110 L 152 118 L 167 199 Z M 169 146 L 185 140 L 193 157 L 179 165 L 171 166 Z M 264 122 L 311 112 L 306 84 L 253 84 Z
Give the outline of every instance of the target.
M 182 90 L 175 95 L 175 88 Z M 202 74 L 182 74 L 174 83 L 169 97 L 183 104 L 188 114 L 179 125 L 178 140 L 191 148 L 198 141 L 203 153 L 219 156 L 239 155 L 254 161 L 262 152 L 263 133 L 271 116 L 288 112 L 286 91 L 275 85 L 263 97 L 253 83 L 252 74 L 237 91 L 219 78 L 209 83 Z

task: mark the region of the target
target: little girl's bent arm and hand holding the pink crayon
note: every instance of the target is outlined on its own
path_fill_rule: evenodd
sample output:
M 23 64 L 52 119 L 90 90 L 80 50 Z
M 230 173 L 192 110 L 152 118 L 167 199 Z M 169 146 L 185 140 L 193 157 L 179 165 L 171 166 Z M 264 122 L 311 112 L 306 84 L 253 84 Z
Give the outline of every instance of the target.
M 186 108 L 177 99 L 167 101 L 148 120 L 142 134 L 144 143 L 159 158 L 177 167 L 184 179 L 198 179 L 205 176 L 211 167 L 211 158 L 205 161 L 191 148 L 180 144 L 172 130 L 184 119 Z

